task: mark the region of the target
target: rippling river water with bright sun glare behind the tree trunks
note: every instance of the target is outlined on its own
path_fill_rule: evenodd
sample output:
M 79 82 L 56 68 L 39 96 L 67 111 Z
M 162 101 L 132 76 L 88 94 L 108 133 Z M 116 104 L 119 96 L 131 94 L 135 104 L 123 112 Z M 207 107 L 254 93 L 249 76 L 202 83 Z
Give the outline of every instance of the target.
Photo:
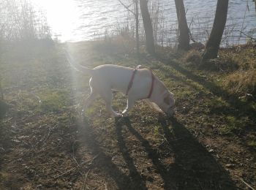
M 53 35 L 61 41 L 103 37 L 121 31 L 134 22 L 118 0 L 32 1 L 46 12 Z M 176 39 L 177 28 L 174 0 L 150 0 L 149 3 L 154 28 L 158 28 L 157 42 L 171 44 Z M 198 42 L 205 42 L 211 32 L 217 0 L 184 0 L 184 4 L 192 36 Z M 255 37 L 256 14 L 252 0 L 230 0 L 223 44 L 246 42 L 248 38 L 238 31 Z

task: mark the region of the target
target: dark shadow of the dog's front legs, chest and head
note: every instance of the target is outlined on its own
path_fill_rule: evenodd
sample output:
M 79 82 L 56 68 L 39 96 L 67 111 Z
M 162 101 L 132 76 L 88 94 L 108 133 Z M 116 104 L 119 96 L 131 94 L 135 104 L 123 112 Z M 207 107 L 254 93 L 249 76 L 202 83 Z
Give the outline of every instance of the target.
M 167 140 L 166 151 L 172 151 L 172 155 L 174 155 L 172 164 L 164 164 L 161 161 L 162 156 L 155 148 L 152 148 L 148 140 L 132 127 L 129 118 L 121 118 L 116 121 L 118 146 L 127 162 L 130 178 L 133 181 L 146 183 L 136 170 L 134 161 L 127 151 L 127 145 L 122 135 L 124 127 L 127 127 L 129 132 L 140 141 L 148 154 L 148 159 L 151 159 L 157 168 L 157 173 L 164 180 L 164 189 L 237 189 L 228 172 L 181 123 L 175 118 L 168 122 L 162 120 L 159 123 Z M 173 137 L 176 140 L 173 140 Z

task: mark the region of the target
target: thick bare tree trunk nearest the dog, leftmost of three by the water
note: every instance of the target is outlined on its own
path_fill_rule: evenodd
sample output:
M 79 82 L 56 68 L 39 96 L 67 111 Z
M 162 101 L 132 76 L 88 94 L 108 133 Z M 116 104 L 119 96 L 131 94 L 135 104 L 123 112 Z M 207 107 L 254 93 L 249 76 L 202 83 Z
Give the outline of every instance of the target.
M 153 27 L 151 23 L 151 18 L 148 12 L 148 1 L 140 0 L 140 10 L 143 19 L 143 26 L 146 36 L 146 50 L 148 53 L 154 55 L 154 37 L 153 37 Z

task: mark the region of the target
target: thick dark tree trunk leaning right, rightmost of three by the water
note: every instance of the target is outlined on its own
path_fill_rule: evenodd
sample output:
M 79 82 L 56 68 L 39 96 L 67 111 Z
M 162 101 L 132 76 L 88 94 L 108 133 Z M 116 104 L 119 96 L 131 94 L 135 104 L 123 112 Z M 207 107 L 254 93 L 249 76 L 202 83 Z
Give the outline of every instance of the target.
M 228 0 L 218 0 L 214 18 L 214 25 L 211 34 L 206 43 L 206 50 L 203 53 L 203 61 L 211 58 L 217 58 L 219 45 L 222 40 L 222 34 L 227 20 Z

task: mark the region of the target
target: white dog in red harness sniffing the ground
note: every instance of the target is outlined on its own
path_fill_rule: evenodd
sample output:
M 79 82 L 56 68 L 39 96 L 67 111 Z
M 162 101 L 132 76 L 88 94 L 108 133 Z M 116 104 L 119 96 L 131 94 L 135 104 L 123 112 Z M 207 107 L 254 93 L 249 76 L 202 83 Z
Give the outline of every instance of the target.
M 149 69 L 132 69 L 124 66 L 105 64 L 89 69 L 86 66 L 75 64 L 70 60 L 69 64 L 80 72 L 91 75 L 89 82 L 91 93 L 86 99 L 83 110 L 99 94 L 105 100 L 106 109 L 114 117 L 127 115 L 128 111 L 138 99 L 147 99 L 148 104 L 159 112 L 167 115 L 174 113 L 173 93 L 167 90 L 164 83 L 153 75 Z M 120 91 L 128 96 L 127 107 L 120 114 L 116 113 L 112 106 L 112 92 Z

